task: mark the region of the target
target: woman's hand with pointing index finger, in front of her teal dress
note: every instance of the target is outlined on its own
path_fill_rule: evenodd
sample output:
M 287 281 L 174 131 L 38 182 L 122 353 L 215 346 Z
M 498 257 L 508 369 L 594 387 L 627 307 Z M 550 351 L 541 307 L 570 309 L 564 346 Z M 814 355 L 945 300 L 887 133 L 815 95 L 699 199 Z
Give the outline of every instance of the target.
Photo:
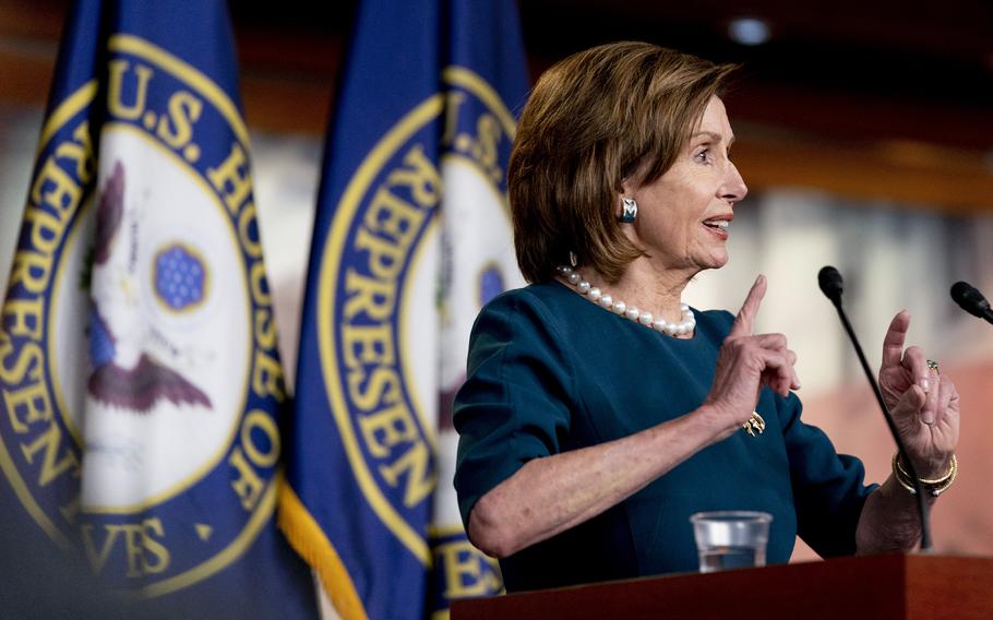
M 704 405 L 717 416 L 718 439 L 730 437 L 749 420 L 762 388 L 768 386 L 781 396 L 800 388 L 793 369 L 797 354 L 787 348 L 786 336 L 753 334 L 765 290 L 766 278 L 759 275 L 717 357 L 714 384 Z

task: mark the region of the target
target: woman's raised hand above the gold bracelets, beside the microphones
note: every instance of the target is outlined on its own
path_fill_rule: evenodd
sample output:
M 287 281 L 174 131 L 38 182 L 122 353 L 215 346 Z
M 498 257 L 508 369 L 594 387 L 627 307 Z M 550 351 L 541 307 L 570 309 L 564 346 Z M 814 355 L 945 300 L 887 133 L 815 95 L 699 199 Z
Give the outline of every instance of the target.
M 928 365 L 921 347 L 904 349 L 909 327 L 906 310 L 889 323 L 880 389 L 918 475 L 941 478 L 948 473 L 958 443 L 958 392 L 947 377 Z

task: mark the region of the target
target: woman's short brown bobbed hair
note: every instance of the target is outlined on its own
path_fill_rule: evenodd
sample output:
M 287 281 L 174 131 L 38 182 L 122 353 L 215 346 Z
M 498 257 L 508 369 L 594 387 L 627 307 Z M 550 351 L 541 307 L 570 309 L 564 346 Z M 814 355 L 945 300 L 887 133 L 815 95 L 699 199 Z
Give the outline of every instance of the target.
M 625 179 L 651 182 L 675 162 L 733 64 L 647 43 L 581 51 L 546 71 L 524 108 L 507 189 L 517 264 L 554 277 L 569 252 L 609 283 L 642 255 L 618 224 Z

